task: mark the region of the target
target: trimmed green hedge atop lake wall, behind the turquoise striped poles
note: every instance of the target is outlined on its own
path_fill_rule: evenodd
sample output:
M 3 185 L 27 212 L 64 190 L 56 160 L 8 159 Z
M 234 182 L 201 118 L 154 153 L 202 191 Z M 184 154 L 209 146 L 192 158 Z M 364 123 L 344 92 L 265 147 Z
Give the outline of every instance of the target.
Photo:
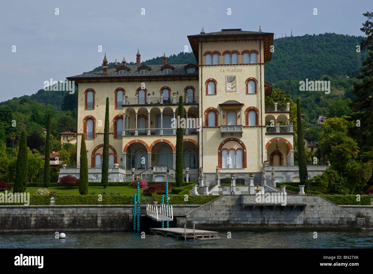
M 161 195 L 153 195 L 154 201 L 160 204 Z M 219 195 L 189 195 L 188 201 L 184 201 L 184 195 L 170 195 L 169 204 L 206 204 Z M 150 198 L 151 197 L 148 197 Z M 98 195 L 56 195 L 56 205 L 133 205 L 133 196 L 130 195 L 102 195 L 102 201 L 98 201 Z

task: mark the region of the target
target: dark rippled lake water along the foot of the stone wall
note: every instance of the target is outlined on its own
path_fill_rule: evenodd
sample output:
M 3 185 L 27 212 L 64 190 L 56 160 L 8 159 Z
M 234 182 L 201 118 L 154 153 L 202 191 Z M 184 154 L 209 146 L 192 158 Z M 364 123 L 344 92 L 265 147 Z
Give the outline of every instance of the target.
M 373 231 L 320 232 L 219 232 L 220 239 L 178 240 L 173 237 L 131 232 L 67 232 L 65 239 L 54 233 L 0 234 L 0 248 L 373 248 Z

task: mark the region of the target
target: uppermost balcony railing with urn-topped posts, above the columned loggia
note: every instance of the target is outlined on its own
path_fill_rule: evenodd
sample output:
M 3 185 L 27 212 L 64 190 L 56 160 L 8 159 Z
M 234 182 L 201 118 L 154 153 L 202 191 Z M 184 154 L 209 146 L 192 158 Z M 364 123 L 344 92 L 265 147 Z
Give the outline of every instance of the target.
M 187 96 L 183 97 L 184 104 L 198 104 L 198 97 L 197 96 Z M 121 103 L 120 106 L 118 103 Z M 148 104 L 179 104 L 179 97 L 171 97 L 171 98 L 163 98 L 161 97 L 150 97 L 148 96 L 145 100 L 145 98 L 123 98 L 122 102 L 117 102 L 117 108 L 121 108 L 122 106 L 126 105 L 148 105 Z

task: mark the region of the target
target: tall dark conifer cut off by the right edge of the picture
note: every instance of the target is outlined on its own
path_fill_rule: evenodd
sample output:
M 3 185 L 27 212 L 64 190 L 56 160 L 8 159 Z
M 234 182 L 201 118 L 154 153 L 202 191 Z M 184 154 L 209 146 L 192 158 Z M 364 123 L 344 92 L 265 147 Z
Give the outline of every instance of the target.
M 369 50 L 369 56 L 363 62 L 363 75 L 357 76 L 362 82 L 354 83 L 353 93 L 357 99 L 352 102 L 351 108 L 358 112 L 352 115 L 352 121 L 357 125 L 350 130 L 362 151 L 369 151 L 373 148 L 373 12 L 363 15 L 368 20 L 360 28 L 367 35 L 366 39 L 361 40 L 361 50 Z

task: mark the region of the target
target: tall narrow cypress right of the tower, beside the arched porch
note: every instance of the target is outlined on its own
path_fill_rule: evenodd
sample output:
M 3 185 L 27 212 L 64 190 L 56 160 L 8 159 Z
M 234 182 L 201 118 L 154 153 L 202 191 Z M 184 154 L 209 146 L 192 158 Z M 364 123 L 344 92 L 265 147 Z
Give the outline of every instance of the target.
M 303 145 L 303 125 L 301 116 L 301 101 L 297 98 L 297 138 L 298 138 L 298 169 L 301 185 L 307 182 L 307 163 L 305 161 L 305 151 Z

